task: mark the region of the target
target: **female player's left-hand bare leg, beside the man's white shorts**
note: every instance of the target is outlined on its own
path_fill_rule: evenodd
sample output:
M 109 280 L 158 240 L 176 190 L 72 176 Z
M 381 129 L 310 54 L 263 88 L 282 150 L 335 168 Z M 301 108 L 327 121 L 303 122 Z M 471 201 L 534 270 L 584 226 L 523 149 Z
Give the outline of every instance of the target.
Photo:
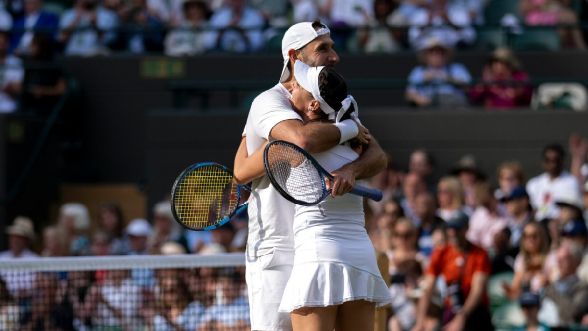
M 333 331 L 339 306 L 302 307 L 290 313 L 293 331 Z M 372 327 L 373 331 L 373 327 Z

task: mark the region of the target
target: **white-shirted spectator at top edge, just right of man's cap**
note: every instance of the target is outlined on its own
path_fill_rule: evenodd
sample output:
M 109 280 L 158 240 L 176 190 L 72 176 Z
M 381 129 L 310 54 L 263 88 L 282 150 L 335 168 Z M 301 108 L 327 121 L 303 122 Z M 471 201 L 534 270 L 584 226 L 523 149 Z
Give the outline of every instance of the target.
M 350 27 L 360 27 L 369 23 L 366 15 L 374 16 L 373 0 L 332 0 L 331 22 L 345 22 Z

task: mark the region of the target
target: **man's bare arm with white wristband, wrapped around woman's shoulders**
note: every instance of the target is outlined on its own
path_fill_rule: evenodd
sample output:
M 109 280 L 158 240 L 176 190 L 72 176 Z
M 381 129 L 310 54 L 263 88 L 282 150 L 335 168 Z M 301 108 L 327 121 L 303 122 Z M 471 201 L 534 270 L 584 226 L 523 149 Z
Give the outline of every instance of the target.
M 346 122 L 346 121 L 343 121 Z M 342 122 L 342 123 L 343 123 Z M 274 125 L 270 137 L 274 140 L 285 140 L 294 143 L 310 154 L 320 153 L 335 147 L 340 143 L 342 133 L 349 130 L 350 122 L 346 126 L 332 123 L 309 122 L 303 123 L 298 119 L 284 120 Z M 362 144 L 368 144 L 372 138 L 369 130 L 355 122 L 358 134 L 348 139 L 358 138 Z M 343 130 L 343 131 L 342 131 Z

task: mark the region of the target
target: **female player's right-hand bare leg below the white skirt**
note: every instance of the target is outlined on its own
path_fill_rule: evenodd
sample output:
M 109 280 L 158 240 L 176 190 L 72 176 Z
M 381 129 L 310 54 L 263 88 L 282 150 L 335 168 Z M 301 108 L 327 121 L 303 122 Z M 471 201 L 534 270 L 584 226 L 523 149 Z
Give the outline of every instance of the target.
M 373 331 L 376 323 L 376 303 L 353 300 L 339 304 L 335 320 L 336 331 Z

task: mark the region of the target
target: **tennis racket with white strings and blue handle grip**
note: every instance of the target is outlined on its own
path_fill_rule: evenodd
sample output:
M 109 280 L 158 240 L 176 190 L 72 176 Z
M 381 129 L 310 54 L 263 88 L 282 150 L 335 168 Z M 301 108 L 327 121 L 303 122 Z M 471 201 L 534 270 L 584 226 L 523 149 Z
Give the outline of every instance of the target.
M 295 144 L 282 140 L 269 143 L 263 150 L 263 166 L 273 187 L 295 204 L 312 206 L 331 193 L 326 188 L 325 177 L 332 180 L 333 176 Z M 349 193 L 382 200 L 382 191 L 362 186 L 353 187 Z

